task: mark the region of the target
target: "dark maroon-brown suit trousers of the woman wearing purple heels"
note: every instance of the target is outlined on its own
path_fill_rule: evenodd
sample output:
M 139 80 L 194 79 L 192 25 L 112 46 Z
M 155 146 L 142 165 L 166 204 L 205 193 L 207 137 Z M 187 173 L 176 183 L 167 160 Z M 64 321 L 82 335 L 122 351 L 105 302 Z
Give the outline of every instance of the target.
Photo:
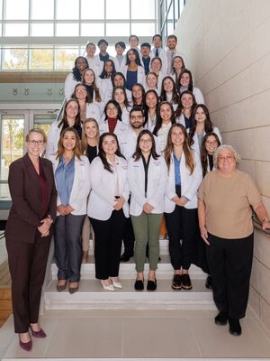
M 27 332 L 30 323 L 38 322 L 49 243 L 50 236 L 41 238 L 38 231 L 33 244 L 6 240 L 15 333 Z

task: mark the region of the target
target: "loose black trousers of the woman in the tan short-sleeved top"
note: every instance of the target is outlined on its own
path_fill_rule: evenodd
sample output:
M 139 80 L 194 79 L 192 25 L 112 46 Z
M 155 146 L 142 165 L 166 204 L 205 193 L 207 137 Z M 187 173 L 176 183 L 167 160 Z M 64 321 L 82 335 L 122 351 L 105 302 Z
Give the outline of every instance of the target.
M 218 310 L 232 319 L 246 315 L 253 258 L 253 234 L 224 239 L 209 234 L 206 249 L 212 276 L 213 299 Z

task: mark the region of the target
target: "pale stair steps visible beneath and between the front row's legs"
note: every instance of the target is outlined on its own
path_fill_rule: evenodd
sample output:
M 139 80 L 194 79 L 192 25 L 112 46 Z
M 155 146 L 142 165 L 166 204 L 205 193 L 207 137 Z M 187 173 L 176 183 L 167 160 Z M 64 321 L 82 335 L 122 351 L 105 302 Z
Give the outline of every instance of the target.
M 91 247 L 91 250 L 93 247 Z M 67 289 L 57 292 L 56 264 L 51 264 L 50 279 L 44 292 L 45 310 L 93 310 L 93 309 L 174 309 L 174 308 L 212 308 L 212 295 L 204 286 L 206 275 L 196 266 L 190 269 L 193 290 L 175 291 L 171 288 L 173 268 L 169 261 L 168 241 L 160 240 L 161 261 L 157 268 L 157 291 L 134 291 L 135 264 L 121 263 L 120 277 L 122 289 L 115 292 L 104 291 L 101 283 L 94 278 L 94 255 L 88 257 L 88 263 L 82 265 L 81 282 L 78 292 L 70 295 Z M 145 267 L 148 273 L 148 264 Z

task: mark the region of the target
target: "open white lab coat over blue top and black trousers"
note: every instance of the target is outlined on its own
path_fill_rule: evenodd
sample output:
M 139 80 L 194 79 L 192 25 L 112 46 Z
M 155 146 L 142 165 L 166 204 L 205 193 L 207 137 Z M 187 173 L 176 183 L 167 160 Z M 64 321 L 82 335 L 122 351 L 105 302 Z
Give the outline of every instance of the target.
M 180 161 L 180 175 L 181 175 L 181 194 L 183 197 L 190 199 L 184 205 L 184 208 L 193 209 L 198 207 L 197 191 L 202 182 L 202 165 L 200 157 L 197 153 L 193 152 L 195 160 L 195 168 L 192 174 L 185 165 L 184 152 Z M 168 181 L 166 184 L 165 194 L 165 212 L 172 213 L 175 210 L 175 202 L 173 199 L 176 196 L 175 193 L 175 162 L 174 157 L 171 157 Z

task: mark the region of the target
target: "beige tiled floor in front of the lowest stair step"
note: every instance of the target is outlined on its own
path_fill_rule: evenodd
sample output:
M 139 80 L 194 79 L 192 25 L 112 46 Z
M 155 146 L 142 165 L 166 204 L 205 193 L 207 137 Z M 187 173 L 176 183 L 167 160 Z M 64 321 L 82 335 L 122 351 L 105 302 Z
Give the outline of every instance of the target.
M 216 326 L 216 310 L 47 310 L 40 319 L 48 337 L 33 339 L 31 353 L 18 347 L 13 319 L 0 330 L 4 360 L 38 358 L 267 358 L 270 334 L 252 310 L 241 337 Z M 9 345 L 6 351 L 4 346 Z

